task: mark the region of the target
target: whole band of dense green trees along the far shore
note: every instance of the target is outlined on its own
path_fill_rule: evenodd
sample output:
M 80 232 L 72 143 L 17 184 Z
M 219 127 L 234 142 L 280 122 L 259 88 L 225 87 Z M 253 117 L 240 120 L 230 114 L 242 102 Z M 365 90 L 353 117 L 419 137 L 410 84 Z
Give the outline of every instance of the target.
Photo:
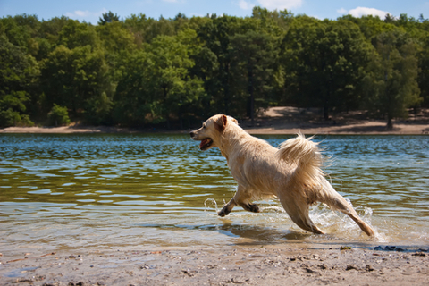
M 429 106 L 428 66 L 423 15 L 322 21 L 256 7 L 246 18 L 109 12 L 92 25 L 22 14 L 0 19 L 0 126 L 186 128 L 295 105 L 325 120 L 366 109 L 391 127 Z

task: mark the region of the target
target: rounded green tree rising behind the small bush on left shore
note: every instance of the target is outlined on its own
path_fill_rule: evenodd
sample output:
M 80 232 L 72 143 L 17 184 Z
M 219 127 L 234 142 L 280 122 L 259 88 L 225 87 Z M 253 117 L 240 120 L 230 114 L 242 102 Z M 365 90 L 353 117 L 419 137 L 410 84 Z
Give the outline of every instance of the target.
M 91 46 L 69 49 L 57 46 L 49 54 L 42 68 L 46 106 L 66 106 L 74 119 L 102 117 L 108 113 L 106 95 L 112 94 L 105 76 L 107 66 L 101 50 L 92 52 Z M 94 106 L 99 103 L 99 106 Z M 105 106 L 105 107 L 102 107 Z M 99 113 L 87 113 L 86 111 Z M 87 117 L 87 115 L 89 117 Z

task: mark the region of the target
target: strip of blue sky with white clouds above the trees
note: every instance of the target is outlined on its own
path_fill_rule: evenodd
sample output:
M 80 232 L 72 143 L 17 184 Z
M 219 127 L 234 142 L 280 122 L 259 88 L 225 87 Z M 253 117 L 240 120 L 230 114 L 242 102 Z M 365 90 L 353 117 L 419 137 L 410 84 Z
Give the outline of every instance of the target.
M 408 17 L 416 18 L 423 13 L 429 18 L 429 0 L 0 0 L 0 17 L 27 13 L 38 15 L 39 20 L 49 20 L 65 15 L 93 24 L 97 24 L 100 15 L 108 11 L 121 17 L 144 13 L 155 19 L 161 15 L 173 18 L 177 13 L 188 17 L 207 13 L 246 17 L 251 15 L 255 5 L 268 10 L 288 9 L 295 15 L 307 14 L 319 19 L 337 19 L 348 13 L 356 17 L 374 14 L 382 19 L 386 13 L 394 17 L 406 13 Z

